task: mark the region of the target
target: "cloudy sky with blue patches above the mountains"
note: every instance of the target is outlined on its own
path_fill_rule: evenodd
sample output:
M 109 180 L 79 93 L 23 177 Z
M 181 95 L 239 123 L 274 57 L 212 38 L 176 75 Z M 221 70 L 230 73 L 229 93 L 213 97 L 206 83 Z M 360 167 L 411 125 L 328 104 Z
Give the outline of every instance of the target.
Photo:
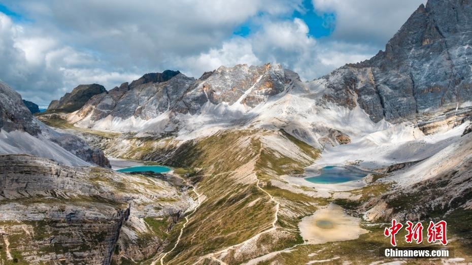
M 313 80 L 362 61 L 425 0 L 0 0 L 0 79 L 47 107 L 79 84 L 280 63 Z

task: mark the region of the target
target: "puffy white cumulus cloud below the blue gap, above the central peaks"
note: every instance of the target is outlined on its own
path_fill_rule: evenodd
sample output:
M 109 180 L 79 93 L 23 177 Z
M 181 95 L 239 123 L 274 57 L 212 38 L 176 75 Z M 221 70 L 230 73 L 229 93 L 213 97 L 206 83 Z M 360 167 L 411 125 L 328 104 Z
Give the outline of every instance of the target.
M 265 20 L 260 30 L 247 38 L 235 37 L 196 57 L 181 58 L 180 67 L 191 68 L 186 74 L 198 76 L 202 69 L 216 69 L 220 65 L 238 63 L 261 64 L 274 62 L 284 65 L 303 80 L 327 74 L 349 62 L 359 62 L 373 55 L 367 45 L 333 40 L 316 40 L 309 34 L 301 19 Z M 188 67 L 187 67 L 188 68 Z

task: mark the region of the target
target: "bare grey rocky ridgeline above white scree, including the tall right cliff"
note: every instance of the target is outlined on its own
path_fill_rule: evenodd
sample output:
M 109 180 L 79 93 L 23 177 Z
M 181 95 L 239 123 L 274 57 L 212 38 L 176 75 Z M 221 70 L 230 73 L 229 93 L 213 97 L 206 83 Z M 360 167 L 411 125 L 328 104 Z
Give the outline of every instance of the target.
M 106 117 L 149 120 L 169 112 L 168 122 L 174 125 L 167 127 L 177 128 L 178 114 L 200 114 L 206 103 L 239 103 L 249 111 L 273 96 L 309 86 L 323 90 L 317 104 L 332 102 L 348 109 L 359 106 L 374 122 L 409 120 L 425 126 L 431 117 L 449 118 L 450 111 L 455 119 L 449 122 L 460 122 L 470 114 L 467 102 L 472 97 L 470 28 L 472 5 L 468 1 L 433 0 L 411 15 L 385 51 L 308 83 L 273 64 L 220 67 L 199 79 L 167 70 L 94 95 L 71 120 L 93 127 Z

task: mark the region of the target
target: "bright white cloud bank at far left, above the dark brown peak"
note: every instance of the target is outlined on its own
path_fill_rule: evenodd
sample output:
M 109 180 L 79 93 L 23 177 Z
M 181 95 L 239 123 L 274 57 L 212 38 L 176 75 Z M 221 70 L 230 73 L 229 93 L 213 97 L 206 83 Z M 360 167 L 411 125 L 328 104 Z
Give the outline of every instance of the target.
M 23 98 L 47 106 L 78 84 L 107 88 L 140 75 L 99 68 L 100 60 L 57 39 L 35 36 L 0 13 L 0 75 Z

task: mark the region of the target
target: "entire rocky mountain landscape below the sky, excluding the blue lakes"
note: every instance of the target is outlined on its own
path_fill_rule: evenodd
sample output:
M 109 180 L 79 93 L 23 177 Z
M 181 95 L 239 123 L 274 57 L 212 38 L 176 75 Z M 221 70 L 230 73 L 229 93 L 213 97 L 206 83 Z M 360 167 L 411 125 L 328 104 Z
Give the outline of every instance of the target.
M 438 263 L 472 261 L 471 28 L 469 1 L 429 0 L 385 51 L 312 81 L 274 63 L 166 70 L 79 85 L 37 117 L 0 83 L 0 264 L 402 261 L 372 254 L 392 218 L 447 220 L 459 259 Z M 368 174 L 306 180 L 327 165 Z M 305 224 L 324 212 L 352 227 L 320 241 Z

